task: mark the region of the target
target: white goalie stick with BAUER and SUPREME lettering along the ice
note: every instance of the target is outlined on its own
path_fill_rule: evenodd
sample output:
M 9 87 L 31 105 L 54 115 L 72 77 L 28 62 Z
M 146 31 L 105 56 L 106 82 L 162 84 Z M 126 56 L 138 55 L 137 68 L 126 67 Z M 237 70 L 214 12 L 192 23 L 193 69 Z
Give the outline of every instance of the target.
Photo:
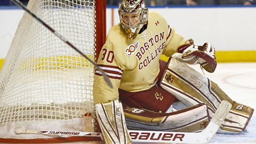
M 219 130 L 220 125 L 227 117 L 231 104 L 227 101 L 222 101 L 219 108 L 215 112 L 209 125 L 202 132 L 161 132 L 161 131 L 134 131 L 129 130 L 129 134 L 133 142 L 146 142 L 146 143 L 207 143 L 214 134 Z M 47 134 L 47 135 L 66 135 L 66 136 L 92 136 L 99 137 L 100 133 L 95 132 L 66 132 L 66 131 L 38 131 L 38 130 L 23 130 L 17 129 L 17 134 Z M 77 133 L 75 135 L 74 133 Z M 79 134 L 81 135 L 79 135 Z

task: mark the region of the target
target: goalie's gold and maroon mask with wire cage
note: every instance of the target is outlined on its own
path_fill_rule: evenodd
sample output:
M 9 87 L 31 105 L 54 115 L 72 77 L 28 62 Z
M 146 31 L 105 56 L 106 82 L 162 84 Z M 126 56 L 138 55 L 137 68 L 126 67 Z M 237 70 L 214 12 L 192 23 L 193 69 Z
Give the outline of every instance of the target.
M 134 39 L 148 20 L 148 8 L 143 0 L 123 0 L 118 13 L 121 30 L 127 39 Z

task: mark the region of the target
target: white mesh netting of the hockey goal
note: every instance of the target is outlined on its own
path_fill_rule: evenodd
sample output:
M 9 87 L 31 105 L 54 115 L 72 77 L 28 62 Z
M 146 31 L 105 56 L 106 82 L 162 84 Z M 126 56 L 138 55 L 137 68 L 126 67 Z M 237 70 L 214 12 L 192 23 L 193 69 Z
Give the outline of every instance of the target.
M 95 60 L 98 5 L 95 0 L 30 0 L 27 7 Z M 0 142 L 51 140 L 17 135 L 17 129 L 94 131 L 93 75 L 92 63 L 25 12 L 0 71 Z

